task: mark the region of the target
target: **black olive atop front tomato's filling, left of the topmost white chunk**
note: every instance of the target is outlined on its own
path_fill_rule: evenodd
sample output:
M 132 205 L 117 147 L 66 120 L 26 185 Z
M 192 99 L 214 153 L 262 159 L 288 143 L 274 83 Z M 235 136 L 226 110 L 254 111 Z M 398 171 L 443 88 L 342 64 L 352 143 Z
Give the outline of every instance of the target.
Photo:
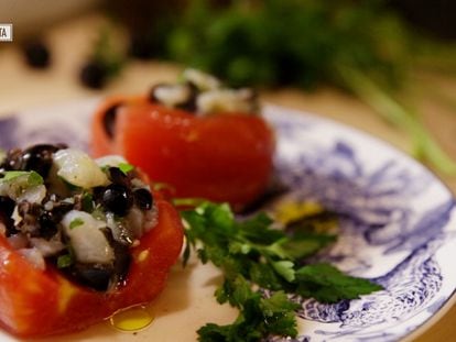
M 66 147 L 65 145 L 39 144 L 22 153 L 21 169 L 35 170 L 43 178 L 47 177 L 53 163 L 53 153 Z

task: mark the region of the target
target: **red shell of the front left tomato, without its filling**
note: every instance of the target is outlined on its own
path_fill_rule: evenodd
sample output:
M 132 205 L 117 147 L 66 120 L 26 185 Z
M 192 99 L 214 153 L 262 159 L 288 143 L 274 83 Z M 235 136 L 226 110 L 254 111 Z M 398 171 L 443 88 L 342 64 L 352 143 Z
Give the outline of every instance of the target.
M 70 283 L 50 266 L 44 272 L 35 268 L 0 236 L 1 328 L 18 337 L 65 333 L 155 298 L 183 243 L 176 210 L 163 199 L 158 199 L 156 206 L 158 224 L 131 249 L 132 263 L 124 284 L 106 294 Z

